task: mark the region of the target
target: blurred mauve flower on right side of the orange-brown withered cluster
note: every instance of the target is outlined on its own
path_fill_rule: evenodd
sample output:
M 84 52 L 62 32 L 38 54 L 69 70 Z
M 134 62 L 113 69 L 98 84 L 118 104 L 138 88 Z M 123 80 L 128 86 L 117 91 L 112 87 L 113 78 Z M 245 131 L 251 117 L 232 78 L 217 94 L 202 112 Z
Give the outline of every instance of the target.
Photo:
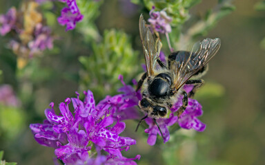
M 34 35 L 35 39 L 28 43 L 30 56 L 46 49 L 52 49 L 54 39 L 51 36 L 51 30 L 48 26 L 43 26 L 41 23 L 38 23 L 35 27 Z

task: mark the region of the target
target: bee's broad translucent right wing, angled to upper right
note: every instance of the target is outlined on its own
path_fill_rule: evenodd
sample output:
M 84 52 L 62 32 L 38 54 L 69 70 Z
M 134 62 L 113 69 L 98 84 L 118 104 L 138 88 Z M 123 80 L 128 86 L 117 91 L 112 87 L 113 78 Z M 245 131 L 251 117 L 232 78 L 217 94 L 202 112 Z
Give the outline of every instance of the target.
M 182 52 L 176 56 L 172 64 L 175 89 L 179 89 L 186 81 L 202 69 L 221 46 L 220 39 L 204 39 L 195 43 L 190 52 Z

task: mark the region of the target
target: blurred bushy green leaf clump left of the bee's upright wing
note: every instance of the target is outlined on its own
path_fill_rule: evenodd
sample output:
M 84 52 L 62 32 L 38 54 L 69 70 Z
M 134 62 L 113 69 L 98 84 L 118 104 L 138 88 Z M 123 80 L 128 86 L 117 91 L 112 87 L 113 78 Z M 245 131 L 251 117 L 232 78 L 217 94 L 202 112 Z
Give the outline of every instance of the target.
M 126 33 L 105 30 L 100 43 L 92 42 L 92 54 L 79 58 L 84 67 L 80 72 L 81 89 L 92 90 L 97 99 L 117 94 L 121 87 L 119 74 L 127 83 L 137 75 L 140 66 L 137 56 Z

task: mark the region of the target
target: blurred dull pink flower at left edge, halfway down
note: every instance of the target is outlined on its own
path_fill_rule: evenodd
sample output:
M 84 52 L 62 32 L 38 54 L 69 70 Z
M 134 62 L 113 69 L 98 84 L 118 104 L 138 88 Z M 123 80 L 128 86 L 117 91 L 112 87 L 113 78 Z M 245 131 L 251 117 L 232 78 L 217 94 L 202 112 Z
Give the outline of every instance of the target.
M 10 85 L 1 85 L 0 86 L 0 104 L 6 106 L 19 107 L 21 102 L 15 96 L 14 91 Z

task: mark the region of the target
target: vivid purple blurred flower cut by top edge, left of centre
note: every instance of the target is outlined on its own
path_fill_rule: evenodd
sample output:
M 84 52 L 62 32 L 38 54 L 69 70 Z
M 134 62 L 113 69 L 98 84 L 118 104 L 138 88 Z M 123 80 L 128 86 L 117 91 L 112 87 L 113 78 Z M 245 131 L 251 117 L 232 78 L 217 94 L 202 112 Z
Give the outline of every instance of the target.
M 66 31 L 75 29 L 77 22 L 82 21 L 83 15 L 79 12 L 77 2 L 75 0 L 59 0 L 66 2 L 68 8 L 61 10 L 61 17 L 58 17 L 58 22 L 61 25 L 66 25 Z

